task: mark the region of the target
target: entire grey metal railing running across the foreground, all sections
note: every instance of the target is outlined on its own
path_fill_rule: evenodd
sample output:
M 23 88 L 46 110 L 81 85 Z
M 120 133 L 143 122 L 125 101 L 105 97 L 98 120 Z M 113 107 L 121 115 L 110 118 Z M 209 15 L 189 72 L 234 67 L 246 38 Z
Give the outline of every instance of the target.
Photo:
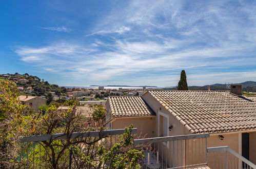
M 119 135 L 125 130 L 92 131 L 82 133 L 53 134 L 43 136 L 21 137 L 21 149 L 19 150 L 19 161 L 24 167 L 45 168 L 49 165 L 49 157 L 44 151 L 42 142 L 55 141 L 55 152 L 60 153 L 59 141 L 67 139 L 87 139 L 108 136 L 97 142 L 96 146 L 105 145 L 110 148 Z M 132 130 L 136 133 L 136 129 Z M 230 149 L 228 146 L 207 147 L 209 134 L 168 136 L 145 139 L 134 139 L 132 148 L 144 151 L 145 157 L 141 159 L 142 168 L 196 168 L 207 166 L 208 168 L 220 169 L 242 169 L 254 168 L 256 165 Z M 81 145 L 83 150 L 90 150 L 92 145 Z M 69 151 L 63 152 L 65 159 L 62 159 L 69 168 L 75 166 L 73 157 Z M 59 166 L 61 167 L 61 166 Z

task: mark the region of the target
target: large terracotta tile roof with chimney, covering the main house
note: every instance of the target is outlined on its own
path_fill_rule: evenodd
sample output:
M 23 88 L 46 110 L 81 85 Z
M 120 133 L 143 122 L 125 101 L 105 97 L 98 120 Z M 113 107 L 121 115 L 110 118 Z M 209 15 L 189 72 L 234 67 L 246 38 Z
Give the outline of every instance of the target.
M 256 102 L 227 91 L 148 91 L 191 133 L 256 129 Z

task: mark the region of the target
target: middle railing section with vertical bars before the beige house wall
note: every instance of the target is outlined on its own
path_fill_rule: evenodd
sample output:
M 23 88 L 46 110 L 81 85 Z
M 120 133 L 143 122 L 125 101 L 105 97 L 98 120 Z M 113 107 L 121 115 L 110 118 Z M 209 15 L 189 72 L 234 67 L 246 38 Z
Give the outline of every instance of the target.
M 136 139 L 137 149 L 144 150 L 143 168 L 184 168 L 207 165 L 209 134 Z

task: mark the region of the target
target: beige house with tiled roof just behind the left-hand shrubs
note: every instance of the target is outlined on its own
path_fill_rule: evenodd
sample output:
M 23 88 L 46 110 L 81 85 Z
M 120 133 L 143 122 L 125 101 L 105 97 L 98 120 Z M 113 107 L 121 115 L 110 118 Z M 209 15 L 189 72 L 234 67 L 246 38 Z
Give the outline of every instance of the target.
M 46 99 L 37 96 L 18 96 L 18 100 L 25 105 L 30 105 L 34 110 L 37 110 L 37 107 L 43 104 L 46 104 Z

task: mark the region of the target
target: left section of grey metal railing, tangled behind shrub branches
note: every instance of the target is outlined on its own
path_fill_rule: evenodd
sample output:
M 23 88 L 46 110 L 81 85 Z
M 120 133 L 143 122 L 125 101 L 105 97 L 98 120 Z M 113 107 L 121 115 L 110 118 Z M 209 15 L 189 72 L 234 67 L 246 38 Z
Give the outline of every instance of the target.
M 137 132 L 137 129 L 132 129 L 132 135 Z M 49 135 L 40 135 L 40 136 L 25 136 L 19 137 L 19 142 L 21 143 L 20 149 L 18 150 L 19 156 L 18 161 L 21 163 L 20 166 L 24 166 L 26 168 L 49 168 L 50 163 L 52 163 L 52 154 L 49 155 L 49 152 L 54 151 L 55 156 L 53 158 L 57 158 L 58 154 L 62 153 L 60 160 L 62 161 L 61 166 L 58 165 L 56 168 L 76 168 L 76 160 L 78 157 L 72 156 L 72 150 L 66 149 L 61 152 L 63 145 L 63 141 L 67 141 L 67 139 L 76 139 L 82 140 L 79 145 L 81 147 L 80 151 L 86 151 L 87 154 L 93 154 L 97 152 L 97 147 L 104 145 L 106 149 L 110 149 L 110 147 L 116 143 L 119 139 L 120 135 L 125 133 L 125 129 L 120 130 L 106 130 L 106 131 L 90 131 L 90 132 L 79 132 L 79 133 L 71 133 L 71 134 L 49 134 Z M 99 138 L 99 141 L 95 141 Z M 93 142 L 92 144 L 88 144 L 88 141 Z M 46 145 L 50 143 L 53 145 L 49 148 Z M 53 149 L 53 150 L 50 150 Z M 92 152 L 92 150 L 94 150 Z M 95 159 L 97 160 L 97 159 Z

